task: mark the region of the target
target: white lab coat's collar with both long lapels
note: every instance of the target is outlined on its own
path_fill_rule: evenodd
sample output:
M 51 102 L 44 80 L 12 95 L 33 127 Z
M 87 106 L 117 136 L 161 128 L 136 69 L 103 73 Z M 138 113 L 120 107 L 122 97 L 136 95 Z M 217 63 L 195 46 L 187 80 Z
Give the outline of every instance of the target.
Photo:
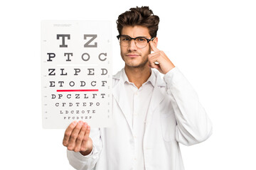
M 154 86 L 153 94 L 151 97 L 151 101 L 149 103 L 149 112 L 146 115 L 146 127 L 151 121 L 151 115 L 154 113 L 155 109 L 159 106 L 159 103 L 161 103 L 161 101 L 163 101 L 164 99 L 164 94 L 160 88 L 166 87 L 166 82 L 163 79 L 161 79 L 159 72 L 156 72 L 151 69 L 151 76 L 154 77 L 152 80 L 155 81 L 153 82 L 155 86 Z M 117 103 L 119 104 L 119 107 L 121 108 L 122 113 L 124 113 L 124 117 L 127 119 L 127 123 L 129 124 L 130 130 L 132 131 L 132 116 L 130 113 L 128 113 L 129 105 L 126 104 L 127 95 L 124 89 L 125 80 L 122 77 L 122 70 L 117 72 L 117 74 L 115 74 L 113 78 L 116 79 L 117 81 L 114 84 L 112 89 L 113 96 L 116 99 Z

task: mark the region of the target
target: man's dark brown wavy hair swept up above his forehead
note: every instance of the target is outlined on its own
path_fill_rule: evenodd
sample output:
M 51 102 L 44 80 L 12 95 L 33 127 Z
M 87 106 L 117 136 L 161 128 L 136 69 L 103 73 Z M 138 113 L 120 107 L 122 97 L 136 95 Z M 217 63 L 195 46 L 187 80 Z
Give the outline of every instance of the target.
M 118 16 L 117 30 L 119 34 L 124 26 L 144 26 L 149 29 L 151 38 L 156 37 L 159 25 L 159 17 L 154 15 L 149 6 L 130 8 Z

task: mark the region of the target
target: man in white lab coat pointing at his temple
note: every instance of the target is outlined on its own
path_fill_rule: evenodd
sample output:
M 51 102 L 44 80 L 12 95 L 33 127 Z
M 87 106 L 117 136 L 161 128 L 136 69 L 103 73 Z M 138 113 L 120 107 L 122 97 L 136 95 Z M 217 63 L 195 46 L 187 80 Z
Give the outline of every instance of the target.
M 210 137 L 212 126 L 196 92 L 157 48 L 158 24 L 146 6 L 119 16 L 125 66 L 113 76 L 113 123 L 92 130 L 82 121 L 69 125 L 63 145 L 75 169 L 181 170 L 178 143 L 194 145 Z

